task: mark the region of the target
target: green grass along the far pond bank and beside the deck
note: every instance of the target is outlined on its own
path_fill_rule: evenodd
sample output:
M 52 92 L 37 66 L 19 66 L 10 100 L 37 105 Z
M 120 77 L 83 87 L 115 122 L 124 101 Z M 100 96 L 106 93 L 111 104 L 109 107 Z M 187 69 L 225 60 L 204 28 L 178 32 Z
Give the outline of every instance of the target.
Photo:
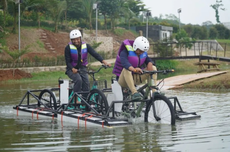
M 176 75 L 183 75 L 183 74 L 193 74 L 199 70 L 198 66 L 195 66 L 194 63 L 198 62 L 198 59 L 184 59 L 184 60 L 177 60 L 175 72 L 168 75 L 158 75 L 158 79 L 162 79 L 165 77 L 176 76 Z M 229 91 L 230 89 L 230 68 L 228 62 L 221 62 L 221 61 L 211 61 L 220 63 L 220 69 L 228 71 L 226 74 L 205 78 L 202 80 L 198 80 L 192 82 L 190 84 L 186 84 L 183 89 L 190 89 L 195 91 Z M 100 66 L 91 66 L 89 69 L 96 71 L 100 68 Z M 95 78 L 97 80 L 107 80 L 108 83 L 111 82 L 111 78 L 115 77 L 112 74 L 113 68 L 101 69 L 101 71 L 95 74 Z M 9 80 L 4 83 L 40 83 L 41 81 L 57 81 L 59 78 L 62 79 L 69 79 L 68 76 L 65 74 L 64 71 L 52 71 L 52 72 L 40 72 L 40 73 L 32 73 L 32 78 L 26 78 L 21 80 Z M 92 78 L 90 78 L 92 81 Z

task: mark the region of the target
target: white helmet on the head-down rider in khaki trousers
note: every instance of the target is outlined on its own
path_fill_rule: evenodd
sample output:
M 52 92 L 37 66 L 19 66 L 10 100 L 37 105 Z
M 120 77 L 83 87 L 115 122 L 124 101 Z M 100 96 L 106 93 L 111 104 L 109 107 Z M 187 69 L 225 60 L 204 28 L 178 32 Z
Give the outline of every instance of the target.
M 144 36 L 137 37 L 133 42 L 133 49 L 136 51 L 140 49 L 141 51 L 148 52 L 149 50 L 149 41 Z

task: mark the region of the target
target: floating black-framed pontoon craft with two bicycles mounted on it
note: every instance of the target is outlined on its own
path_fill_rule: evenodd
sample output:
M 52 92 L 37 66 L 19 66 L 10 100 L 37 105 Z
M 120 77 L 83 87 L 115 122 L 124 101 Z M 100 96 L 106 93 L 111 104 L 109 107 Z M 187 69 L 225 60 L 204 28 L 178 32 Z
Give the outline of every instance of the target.
M 44 90 L 28 90 L 18 105 L 13 107 L 17 115 L 27 113 L 32 118 L 56 118 L 59 121 L 76 123 L 77 126 L 99 125 L 114 127 L 132 125 L 135 120 L 148 123 L 166 123 L 175 125 L 177 120 L 199 118 L 195 112 L 183 111 L 177 97 L 166 97 L 160 92 L 159 84 L 153 86 L 152 75 L 166 74 L 172 70 L 144 71 L 149 74 L 148 83 L 139 87 L 138 91 L 144 95 L 144 100 L 130 100 L 130 91 L 121 88 L 116 79 L 111 79 L 111 88 L 103 81 L 103 87 L 98 87 L 95 74 L 88 71 L 93 78 L 92 89 L 88 92 L 73 92 L 72 81 L 59 79 L 58 88 Z M 155 89 L 155 92 L 152 90 Z

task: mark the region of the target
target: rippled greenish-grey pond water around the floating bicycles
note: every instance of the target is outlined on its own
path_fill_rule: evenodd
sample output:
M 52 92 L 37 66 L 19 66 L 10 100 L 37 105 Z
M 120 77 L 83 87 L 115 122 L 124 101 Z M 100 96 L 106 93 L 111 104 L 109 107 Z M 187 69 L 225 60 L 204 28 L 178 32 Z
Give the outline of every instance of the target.
M 230 93 L 165 91 L 200 119 L 175 126 L 140 123 L 117 128 L 62 126 L 59 121 L 16 116 L 27 90 L 56 82 L 0 84 L 0 151 L 230 151 Z

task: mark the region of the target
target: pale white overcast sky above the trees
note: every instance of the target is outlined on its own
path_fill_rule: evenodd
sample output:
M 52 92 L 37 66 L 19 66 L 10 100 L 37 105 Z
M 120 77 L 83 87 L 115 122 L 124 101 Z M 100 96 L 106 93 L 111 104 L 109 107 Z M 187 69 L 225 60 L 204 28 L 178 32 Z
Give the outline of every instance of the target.
M 216 0 L 142 0 L 142 2 L 151 10 L 152 17 L 174 14 L 179 18 L 177 10 L 181 8 L 181 23 L 199 25 L 206 21 L 217 23 L 215 10 L 210 7 Z M 222 0 L 222 4 L 225 11 L 219 10 L 220 22 L 230 22 L 230 0 Z

